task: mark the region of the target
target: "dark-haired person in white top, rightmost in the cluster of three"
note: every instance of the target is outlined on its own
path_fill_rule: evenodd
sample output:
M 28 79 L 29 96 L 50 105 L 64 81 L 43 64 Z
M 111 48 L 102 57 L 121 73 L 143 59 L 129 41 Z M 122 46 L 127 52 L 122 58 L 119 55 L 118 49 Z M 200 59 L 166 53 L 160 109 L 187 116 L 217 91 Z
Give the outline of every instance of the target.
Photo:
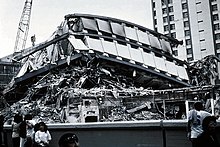
M 38 125 L 39 130 L 34 135 L 35 143 L 37 144 L 37 147 L 49 147 L 52 138 L 47 125 L 44 122 L 40 122 Z

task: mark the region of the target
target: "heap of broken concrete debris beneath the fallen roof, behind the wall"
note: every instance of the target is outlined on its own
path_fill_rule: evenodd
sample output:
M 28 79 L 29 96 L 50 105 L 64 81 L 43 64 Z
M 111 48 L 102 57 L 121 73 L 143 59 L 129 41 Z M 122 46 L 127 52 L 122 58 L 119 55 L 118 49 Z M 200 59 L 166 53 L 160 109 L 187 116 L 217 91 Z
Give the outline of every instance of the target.
M 152 90 L 135 85 L 135 70 L 128 76 L 87 55 L 75 62 L 78 64 L 56 67 L 26 85 L 22 98 L 2 111 L 7 123 L 14 113 L 31 113 L 36 121 L 47 123 L 185 119 L 185 99 L 195 99 L 190 93 L 211 97 L 212 87 Z M 215 113 L 219 110 L 217 96 Z

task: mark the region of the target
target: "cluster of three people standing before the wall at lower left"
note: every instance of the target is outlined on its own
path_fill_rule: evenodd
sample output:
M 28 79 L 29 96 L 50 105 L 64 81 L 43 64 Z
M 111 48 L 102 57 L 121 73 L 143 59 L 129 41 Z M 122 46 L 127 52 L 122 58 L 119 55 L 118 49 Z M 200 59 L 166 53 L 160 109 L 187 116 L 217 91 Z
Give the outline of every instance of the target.
M 49 147 L 50 132 L 44 122 L 35 123 L 32 115 L 16 114 L 12 122 L 13 147 Z

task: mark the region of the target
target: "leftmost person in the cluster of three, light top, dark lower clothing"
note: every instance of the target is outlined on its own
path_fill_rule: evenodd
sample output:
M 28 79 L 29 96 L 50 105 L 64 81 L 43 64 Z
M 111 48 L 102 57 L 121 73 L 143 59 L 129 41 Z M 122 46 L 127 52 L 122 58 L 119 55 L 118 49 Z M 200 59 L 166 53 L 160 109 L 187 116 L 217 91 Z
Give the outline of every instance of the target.
M 22 116 L 15 114 L 12 122 L 12 144 L 13 147 L 20 147 L 19 126 L 22 122 Z

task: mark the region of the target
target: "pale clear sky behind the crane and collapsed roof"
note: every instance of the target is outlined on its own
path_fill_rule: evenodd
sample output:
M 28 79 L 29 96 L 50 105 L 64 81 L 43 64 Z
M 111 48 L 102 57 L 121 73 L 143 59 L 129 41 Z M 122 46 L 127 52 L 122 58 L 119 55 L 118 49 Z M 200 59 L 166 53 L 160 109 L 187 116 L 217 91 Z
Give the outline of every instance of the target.
M 26 0 L 0 0 L 0 57 L 14 52 L 18 24 Z M 67 14 L 94 14 L 126 20 L 153 29 L 151 0 L 33 0 L 26 41 L 46 41 Z

